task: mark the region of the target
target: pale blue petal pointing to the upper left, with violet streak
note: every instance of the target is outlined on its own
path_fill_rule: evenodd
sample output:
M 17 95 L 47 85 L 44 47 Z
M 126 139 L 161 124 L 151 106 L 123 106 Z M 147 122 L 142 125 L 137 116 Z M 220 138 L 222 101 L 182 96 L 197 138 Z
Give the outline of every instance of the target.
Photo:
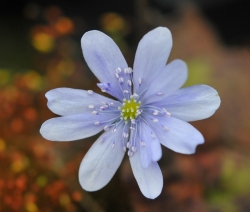
M 91 71 L 100 82 L 109 83 L 108 93 L 122 100 L 123 93 L 116 78 L 116 69 L 123 70 L 128 65 L 118 46 L 109 36 L 97 30 L 86 32 L 82 36 L 81 45 Z

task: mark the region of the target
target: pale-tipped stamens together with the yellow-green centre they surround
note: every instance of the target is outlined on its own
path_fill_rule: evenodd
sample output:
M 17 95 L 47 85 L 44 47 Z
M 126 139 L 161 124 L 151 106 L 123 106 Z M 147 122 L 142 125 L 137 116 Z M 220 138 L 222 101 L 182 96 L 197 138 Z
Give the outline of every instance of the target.
M 157 123 L 160 117 L 169 117 L 170 113 L 165 108 L 159 108 L 152 105 L 141 105 L 140 98 L 145 94 L 148 88 L 139 92 L 139 94 L 133 93 L 133 70 L 131 68 L 125 68 L 123 71 L 121 68 L 115 70 L 115 76 L 118 80 L 119 88 L 121 93 L 124 96 L 123 103 L 118 107 L 116 103 L 113 102 L 101 102 L 101 105 L 96 107 L 95 105 L 89 105 L 89 109 L 93 109 L 92 114 L 98 115 L 100 113 L 112 113 L 117 114 L 116 118 L 109 119 L 107 121 L 95 121 L 94 125 L 98 126 L 100 124 L 107 123 L 104 126 L 104 131 L 111 130 L 110 132 L 115 133 L 118 127 L 122 126 L 122 123 L 125 122 L 123 126 L 122 133 L 122 143 L 123 150 L 128 149 L 128 155 L 132 156 L 138 148 L 138 145 L 145 147 L 147 144 L 145 141 L 140 141 L 137 143 L 137 136 L 140 135 L 141 129 L 139 120 L 145 122 L 147 125 L 147 120 L 144 116 L 140 114 L 144 113 L 146 117 L 150 118 L 152 122 Z M 139 86 L 142 84 L 142 79 L 138 79 Z M 110 83 L 99 83 L 98 86 L 103 92 L 110 91 Z M 93 91 L 88 91 L 88 94 L 92 95 Z M 133 93 L 133 95 L 131 95 Z M 161 96 L 162 92 L 157 92 L 157 96 Z M 119 114 L 120 113 L 120 114 Z M 120 118 L 119 118 L 120 117 Z M 159 125 L 164 131 L 169 131 L 167 126 Z M 156 135 L 151 132 L 151 137 L 156 138 Z M 101 142 L 105 140 L 103 136 Z M 114 140 L 111 144 L 111 147 L 114 148 L 116 141 Z

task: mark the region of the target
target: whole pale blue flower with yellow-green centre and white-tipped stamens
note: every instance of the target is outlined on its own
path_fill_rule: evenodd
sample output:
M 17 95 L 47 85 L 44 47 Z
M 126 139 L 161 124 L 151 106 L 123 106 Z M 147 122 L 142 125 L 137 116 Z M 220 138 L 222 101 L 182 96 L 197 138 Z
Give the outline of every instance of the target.
M 193 154 L 204 138 L 187 121 L 213 115 L 220 105 L 218 93 L 206 85 L 181 88 L 187 66 L 182 60 L 166 65 L 172 36 L 165 27 L 141 39 L 133 69 L 102 32 L 85 33 L 81 44 L 89 68 L 101 82 L 98 87 L 117 100 L 91 90 L 51 90 L 46 93 L 48 107 L 62 117 L 43 123 L 40 132 L 51 141 L 73 141 L 104 130 L 81 162 L 83 189 L 104 187 L 127 152 L 141 192 L 154 199 L 163 187 L 157 163 L 161 144 L 178 153 Z

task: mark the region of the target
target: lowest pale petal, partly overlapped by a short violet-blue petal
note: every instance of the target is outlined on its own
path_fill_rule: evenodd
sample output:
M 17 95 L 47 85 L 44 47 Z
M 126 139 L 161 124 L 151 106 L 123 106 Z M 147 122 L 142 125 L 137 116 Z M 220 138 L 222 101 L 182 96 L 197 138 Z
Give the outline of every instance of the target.
M 142 167 L 140 148 L 138 148 L 138 152 L 129 157 L 132 171 L 142 194 L 149 199 L 155 199 L 162 191 L 162 173 L 157 162 L 151 162 L 146 169 Z

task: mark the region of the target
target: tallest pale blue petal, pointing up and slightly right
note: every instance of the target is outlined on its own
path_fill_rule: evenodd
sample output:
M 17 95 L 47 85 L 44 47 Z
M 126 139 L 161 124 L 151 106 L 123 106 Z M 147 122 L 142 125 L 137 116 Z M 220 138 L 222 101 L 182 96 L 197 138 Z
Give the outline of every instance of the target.
M 172 35 L 166 27 L 157 27 L 141 39 L 134 61 L 134 89 L 139 94 L 149 86 L 167 63 L 172 48 Z M 139 83 L 141 79 L 141 85 Z

